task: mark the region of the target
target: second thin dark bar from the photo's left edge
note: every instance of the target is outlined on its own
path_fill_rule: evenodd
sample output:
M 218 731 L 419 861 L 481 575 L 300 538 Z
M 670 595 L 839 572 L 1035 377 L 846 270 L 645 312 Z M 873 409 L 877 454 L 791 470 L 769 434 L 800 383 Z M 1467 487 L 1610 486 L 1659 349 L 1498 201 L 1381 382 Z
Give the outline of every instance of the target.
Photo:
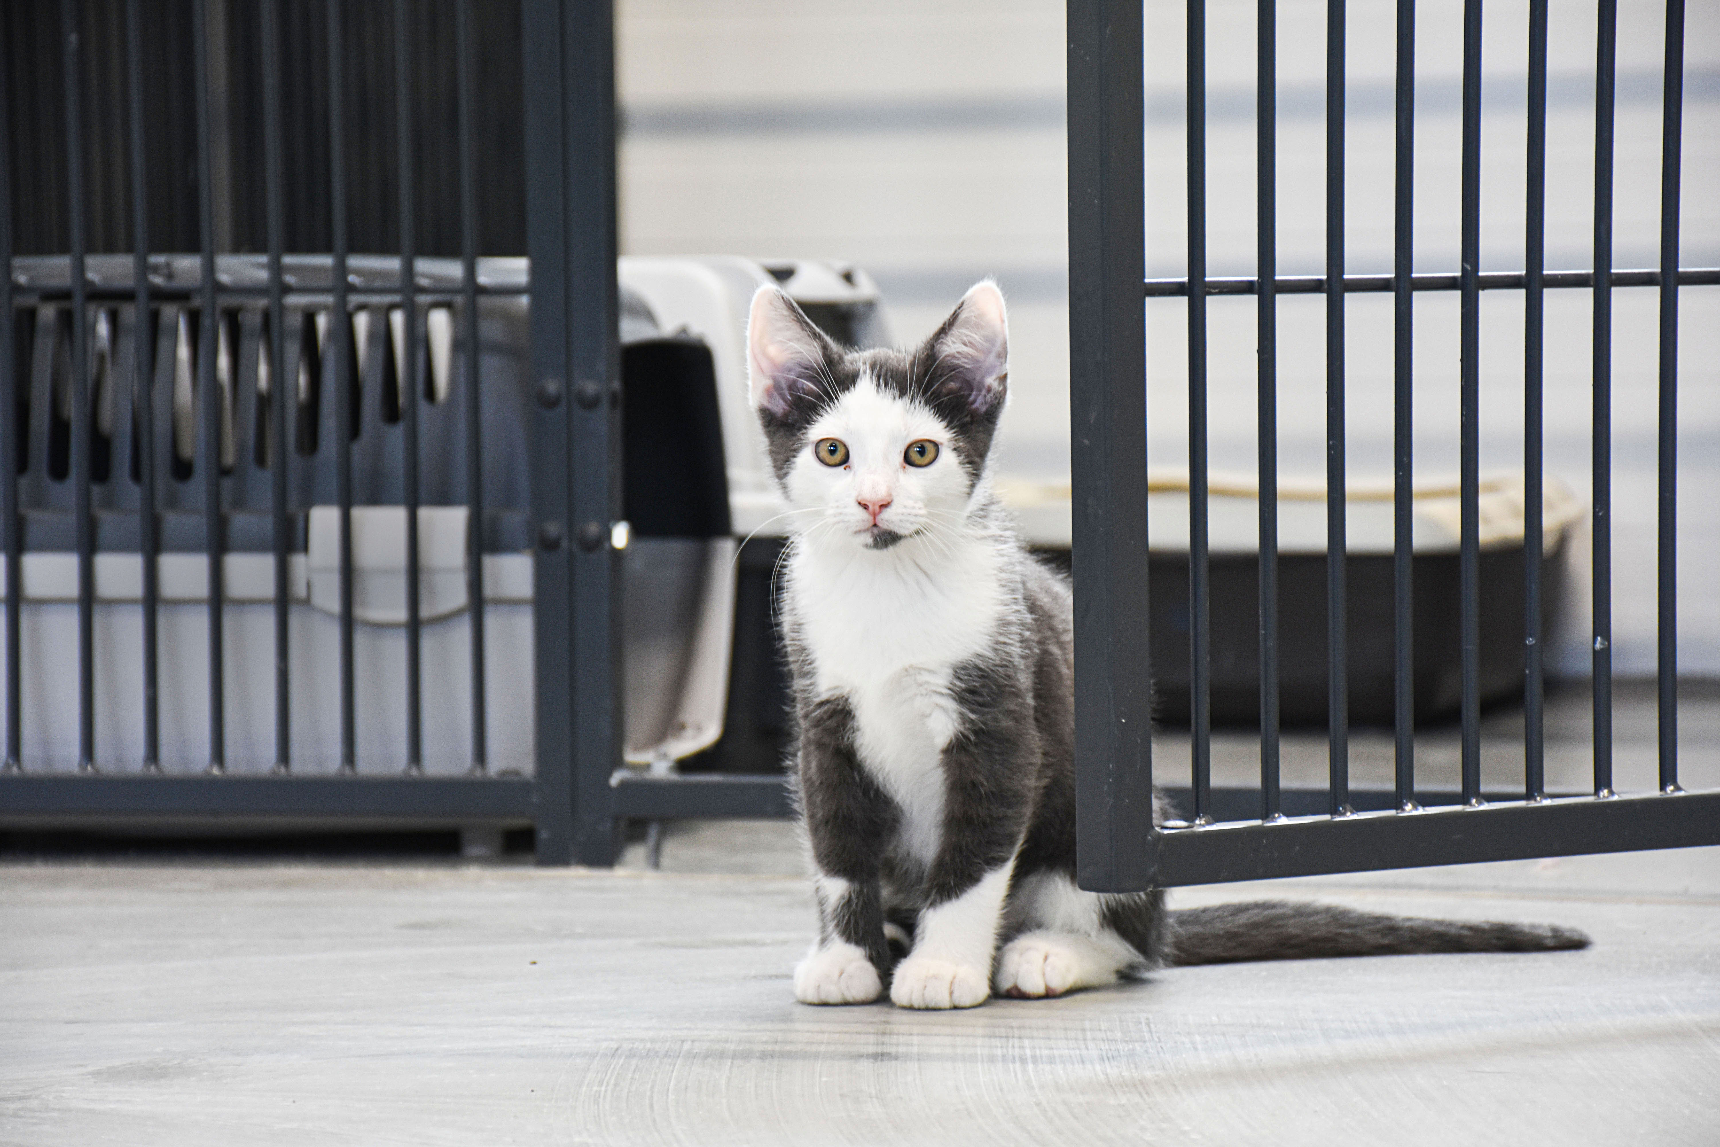
M 77 518 L 77 770 L 96 770 L 95 519 L 89 512 L 89 315 L 84 279 L 84 124 L 83 50 L 77 7 L 60 0 L 65 52 L 65 213 L 72 272 L 72 485 Z M 5 272 L 10 275 L 12 268 Z M 22 585 L 7 586 L 14 595 Z

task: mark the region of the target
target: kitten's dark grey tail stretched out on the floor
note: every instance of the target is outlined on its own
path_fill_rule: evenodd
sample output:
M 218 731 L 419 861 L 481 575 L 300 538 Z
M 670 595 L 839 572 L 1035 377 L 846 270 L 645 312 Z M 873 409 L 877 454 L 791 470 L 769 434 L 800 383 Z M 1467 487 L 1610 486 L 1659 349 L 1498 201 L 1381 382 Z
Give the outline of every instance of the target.
M 1256 899 L 1170 913 L 1170 965 L 1429 953 L 1539 953 L 1588 948 L 1589 937 L 1550 923 L 1426 920 L 1335 905 Z

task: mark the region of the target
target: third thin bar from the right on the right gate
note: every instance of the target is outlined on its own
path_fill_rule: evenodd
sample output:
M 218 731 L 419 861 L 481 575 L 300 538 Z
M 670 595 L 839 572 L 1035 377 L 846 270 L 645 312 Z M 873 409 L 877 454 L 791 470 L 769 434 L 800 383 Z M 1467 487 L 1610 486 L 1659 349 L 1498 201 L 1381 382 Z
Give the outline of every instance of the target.
M 1541 523 L 1543 423 L 1546 349 L 1546 0 L 1529 0 L 1529 156 L 1527 203 L 1524 210 L 1524 371 L 1522 371 L 1522 578 L 1524 578 L 1524 684 L 1522 757 L 1524 798 L 1546 794 L 1546 635 L 1543 633 Z

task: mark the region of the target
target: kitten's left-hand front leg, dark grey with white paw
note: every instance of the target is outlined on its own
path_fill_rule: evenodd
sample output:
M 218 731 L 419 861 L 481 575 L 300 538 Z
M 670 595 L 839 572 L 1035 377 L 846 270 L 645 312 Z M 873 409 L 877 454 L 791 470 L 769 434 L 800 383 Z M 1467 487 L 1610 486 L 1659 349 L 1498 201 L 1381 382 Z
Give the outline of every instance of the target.
M 819 939 L 795 968 L 795 999 L 869 1004 L 889 973 L 879 855 L 900 813 L 855 757 L 853 710 L 845 698 L 805 707 L 800 724 L 800 794 L 819 867 Z

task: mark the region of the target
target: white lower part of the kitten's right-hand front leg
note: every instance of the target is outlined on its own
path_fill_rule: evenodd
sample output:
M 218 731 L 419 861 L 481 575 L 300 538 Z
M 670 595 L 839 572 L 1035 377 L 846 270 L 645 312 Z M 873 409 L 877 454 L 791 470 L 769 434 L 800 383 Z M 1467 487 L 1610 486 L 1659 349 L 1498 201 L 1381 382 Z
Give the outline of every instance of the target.
M 991 956 L 1010 891 L 1011 860 L 979 884 L 920 915 L 913 951 L 896 965 L 889 997 L 898 1008 L 972 1008 L 991 996 Z

